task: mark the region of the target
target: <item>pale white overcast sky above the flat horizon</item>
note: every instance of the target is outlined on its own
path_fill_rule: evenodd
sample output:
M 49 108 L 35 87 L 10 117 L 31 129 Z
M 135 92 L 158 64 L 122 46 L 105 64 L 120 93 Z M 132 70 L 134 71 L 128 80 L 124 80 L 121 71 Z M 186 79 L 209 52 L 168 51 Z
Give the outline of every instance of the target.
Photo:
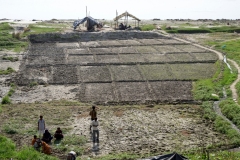
M 240 0 L 0 0 L 0 19 L 240 19 Z

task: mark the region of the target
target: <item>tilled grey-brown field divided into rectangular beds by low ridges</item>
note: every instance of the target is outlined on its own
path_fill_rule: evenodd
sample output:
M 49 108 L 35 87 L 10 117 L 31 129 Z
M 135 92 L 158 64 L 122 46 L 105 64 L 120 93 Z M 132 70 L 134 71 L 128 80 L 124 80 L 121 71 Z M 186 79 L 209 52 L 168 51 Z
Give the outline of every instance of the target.
M 153 32 L 71 36 L 30 37 L 17 84 L 74 85 L 84 102 L 191 102 L 192 81 L 216 71 L 215 53 Z

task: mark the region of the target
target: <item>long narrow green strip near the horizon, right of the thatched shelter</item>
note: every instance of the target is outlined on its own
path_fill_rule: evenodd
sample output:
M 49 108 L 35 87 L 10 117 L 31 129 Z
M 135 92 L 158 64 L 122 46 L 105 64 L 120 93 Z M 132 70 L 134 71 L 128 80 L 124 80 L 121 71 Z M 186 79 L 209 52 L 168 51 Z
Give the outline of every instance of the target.
M 187 33 L 187 34 L 192 34 L 192 33 L 215 33 L 215 32 L 227 32 L 227 33 L 240 33 L 240 28 L 239 27 L 234 27 L 234 26 L 222 26 L 222 27 L 199 27 L 199 28 L 165 28 L 165 31 L 168 33 Z

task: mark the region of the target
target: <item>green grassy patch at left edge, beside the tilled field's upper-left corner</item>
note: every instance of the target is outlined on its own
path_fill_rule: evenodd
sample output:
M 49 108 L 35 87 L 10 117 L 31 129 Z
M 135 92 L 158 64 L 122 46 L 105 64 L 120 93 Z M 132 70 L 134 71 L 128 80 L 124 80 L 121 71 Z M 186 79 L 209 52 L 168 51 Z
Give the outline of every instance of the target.
M 20 41 L 17 34 L 11 34 L 11 32 L 14 30 L 9 23 L 0 23 L 0 50 L 8 49 L 20 52 L 27 47 L 28 43 Z

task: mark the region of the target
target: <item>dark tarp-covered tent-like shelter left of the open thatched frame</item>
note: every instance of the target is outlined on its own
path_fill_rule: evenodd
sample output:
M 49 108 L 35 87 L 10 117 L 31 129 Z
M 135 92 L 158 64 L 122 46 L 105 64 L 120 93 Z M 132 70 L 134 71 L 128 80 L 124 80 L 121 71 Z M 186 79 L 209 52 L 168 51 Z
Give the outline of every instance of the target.
M 95 20 L 94 18 L 87 16 L 83 19 L 80 20 L 76 20 L 73 22 L 73 28 L 74 30 L 77 28 L 77 26 L 79 26 L 80 24 L 84 23 L 85 21 L 87 21 L 87 30 L 88 31 L 94 31 L 95 30 L 95 26 L 97 26 L 97 28 L 101 28 L 102 24 L 100 22 L 98 22 L 97 20 Z

